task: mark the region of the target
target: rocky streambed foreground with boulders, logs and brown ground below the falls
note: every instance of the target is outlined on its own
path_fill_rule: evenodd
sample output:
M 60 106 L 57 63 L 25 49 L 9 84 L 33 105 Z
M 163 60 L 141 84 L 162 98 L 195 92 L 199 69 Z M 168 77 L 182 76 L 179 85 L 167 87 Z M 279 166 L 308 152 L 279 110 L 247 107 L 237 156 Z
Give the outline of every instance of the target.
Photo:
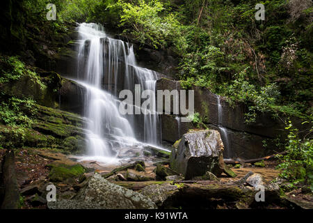
M 139 156 L 118 167 L 77 162 L 70 155 L 38 148 L 21 149 L 14 155 L 2 150 L 1 207 L 312 208 L 310 192 L 280 190 L 284 182 L 273 168 L 275 161 L 263 162 L 262 167 L 225 165 L 219 140 L 214 130 L 191 131 L 170 157 L 151 153 L 150 159 Z M 185 160 L 176 163 L 178 167 L 176 154 Z M 51 184 L 56 186 L 56 202 L 47 203 Z M 256 199 L 262 199 L 257 194 L 260 188 L 264 188 L 264 201 Z M 8 197 L 15 199 L 8 202 Z

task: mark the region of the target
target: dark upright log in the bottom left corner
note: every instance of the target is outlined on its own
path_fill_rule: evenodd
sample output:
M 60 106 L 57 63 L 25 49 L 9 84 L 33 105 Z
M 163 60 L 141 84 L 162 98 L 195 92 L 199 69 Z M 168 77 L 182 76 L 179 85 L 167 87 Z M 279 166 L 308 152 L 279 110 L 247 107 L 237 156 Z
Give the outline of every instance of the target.
M 1 209 L 17 209 L 19 208 L 19 186 L 17 185 L 15 159 L 12 150 L 6 152 L 2 163 L 1 181 L 4 194 Z

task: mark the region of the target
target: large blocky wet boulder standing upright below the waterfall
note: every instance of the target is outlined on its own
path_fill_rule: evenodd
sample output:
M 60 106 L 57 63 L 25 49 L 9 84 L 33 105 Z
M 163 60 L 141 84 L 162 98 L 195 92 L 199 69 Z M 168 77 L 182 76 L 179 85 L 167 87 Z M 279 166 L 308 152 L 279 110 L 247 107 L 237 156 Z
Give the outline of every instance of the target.
M 219 176 L 223 169 L 223 142 L 216 130 L 184 134 L 178 148 L 173 148 L 170 167 L 191 179 L 207 171 Z

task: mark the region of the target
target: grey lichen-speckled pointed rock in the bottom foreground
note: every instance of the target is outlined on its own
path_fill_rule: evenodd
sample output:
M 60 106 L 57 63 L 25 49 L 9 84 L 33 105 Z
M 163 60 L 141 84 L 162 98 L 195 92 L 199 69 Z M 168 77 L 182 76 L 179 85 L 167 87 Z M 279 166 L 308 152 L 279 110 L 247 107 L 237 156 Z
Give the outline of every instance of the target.
M 74 199 L 49 202 L 51 209 L 154 209 L 155 203 L 138 192 L 109 183 L 95 174 Z

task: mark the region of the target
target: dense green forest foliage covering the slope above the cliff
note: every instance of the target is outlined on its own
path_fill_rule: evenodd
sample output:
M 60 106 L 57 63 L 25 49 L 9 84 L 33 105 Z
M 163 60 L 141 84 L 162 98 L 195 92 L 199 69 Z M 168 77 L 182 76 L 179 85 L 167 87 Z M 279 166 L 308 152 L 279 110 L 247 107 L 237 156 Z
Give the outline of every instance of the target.
M 185 89 L 195 84 L 245 102 L 246 119 L 253 122 L 257 112 L 312 113 L 312 4 L 296 2 L 261 2 L 264 21 L 255 20 L 257 0 L 29 0 L 26 5 L 46 13 L 45 5 L 55 3 L 58 20 L 120 27 L 141 43 L 172 49 Z M 234 75 L 248 66 L 244 79 Z

